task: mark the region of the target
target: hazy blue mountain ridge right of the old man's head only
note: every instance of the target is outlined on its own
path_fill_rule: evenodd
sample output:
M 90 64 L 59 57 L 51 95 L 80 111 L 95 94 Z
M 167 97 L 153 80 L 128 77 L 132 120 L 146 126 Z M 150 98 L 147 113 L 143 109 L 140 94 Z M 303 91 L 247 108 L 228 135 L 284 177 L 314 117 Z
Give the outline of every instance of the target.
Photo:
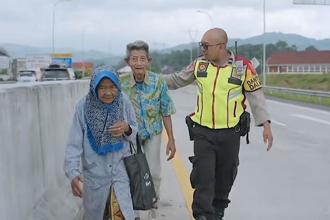
M 312 38 L 306 38 L 305 36 L 299 34 L 292 33 L 282 33 L 282 32 L 269 32 L 257 36 L 252 36 L 247 39 L 229 39 L 228 47 L 235 46 L 235 41 L 237 41 L 238 45 L 244 44 L 275 44 L 278 41 L 285 41 L 289 46 L 295 45 L 298 50 L 305 50 L 308 46 L 314 46 L 318 50 L 330 50 L 330 39 L 324 40 L 316 40 Z M 160 50 L 160 53 L 171 53 L 171 51 L 175 50 L 184 50 L 190 49 L 191 46 L 198 47 L 198 43 L 189 43 L 189 44 L 181 44 L 172 48 L 167 48 Z

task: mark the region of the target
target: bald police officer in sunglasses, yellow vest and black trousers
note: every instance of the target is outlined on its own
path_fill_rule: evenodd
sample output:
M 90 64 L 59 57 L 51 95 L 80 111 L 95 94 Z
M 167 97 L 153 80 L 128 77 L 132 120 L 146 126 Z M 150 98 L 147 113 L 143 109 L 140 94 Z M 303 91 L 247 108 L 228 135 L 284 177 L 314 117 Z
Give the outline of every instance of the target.
M 163 75 L 170 89 L 197 81 L 197 103 L 191 120 L 193 127 L 192 172 L 195 189 L 192 211 L 195 219 L 222 219 L 230 200 L 228 195 L 237 175 L 241 116 L 249 101 L 256 126 L 263 126 L 267 151 L 273 144 L 270 117 L 260 80 L 251 62 L 236 57 L 226 48 L 223 29 L 206 31 L 200 42 L 203 55 L 184 70 Z M 243 127 L 242 127 L 243 126 Z

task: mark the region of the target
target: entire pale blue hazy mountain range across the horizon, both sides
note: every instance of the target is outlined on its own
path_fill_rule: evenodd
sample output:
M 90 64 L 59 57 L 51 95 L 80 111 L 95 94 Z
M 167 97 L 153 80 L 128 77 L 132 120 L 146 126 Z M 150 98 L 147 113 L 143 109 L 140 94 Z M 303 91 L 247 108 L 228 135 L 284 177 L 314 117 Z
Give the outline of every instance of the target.
M 257 36 L 252 36 L 247 39 L 229 39 L 228 47 L 235 46 L 235 41 L 238 45 L 244 44 L 275 44 L 278 41 L 285 41 L 289 46 L 295 45 L 298 50 L 305 50 L 308 46 L 314 46 L 318 50 L 330 50 L 330 39 L 315 40 L 311 38 L 306 38 L 305 36 L 299 34 L 282 33 L 282 32 L 269 32 Z M 30 47 L 26 45 L 18 44 L 0 44 L 0 48 L 4 48 L 11 57 L 13 58 L 24 58 L 25 54 L 51 54 L 51 48 L 38 48 Z M 199 47 L 198 43 L 181 44 L 172 48 L 167 48 L 163 50 L 155 50 L 160 53 L 171 53 L 173 50 L 185 50 L 191 47 Z M 152 48 L 151 48 L 152 49 Z M 72 53 L 73 60 L 81 61 L 82 52 L 81 50 L 74 48 L 56 48 L 56 53 Z M 114 55 L 106 52 L 89 50 L 84 52 L 84 60 L 94 62 L 95 65 L 98 64 L 109 64 L 118 65 L 119 61 L 123 60 L 123 56 Z M 124 65 L 124 64 L 122 64 Z

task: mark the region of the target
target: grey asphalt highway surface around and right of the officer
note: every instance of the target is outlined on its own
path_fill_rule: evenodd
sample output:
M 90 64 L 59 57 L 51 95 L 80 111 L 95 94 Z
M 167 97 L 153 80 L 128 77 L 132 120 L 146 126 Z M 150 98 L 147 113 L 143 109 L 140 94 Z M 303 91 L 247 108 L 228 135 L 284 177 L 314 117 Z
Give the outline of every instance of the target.
M 185 178 L 191 171 L 187 158 L 193 151 L 184 119 L 194 111 L 196 87 L 171 91 L 171 95 L 177 109 L 173 116 L 176 160 L 185 169 L 178 172 L 178 162 L 174 168 L 189 210 L 190 194 L 184 192 L 192 192 Z M 250 144 L 241 139 L 239 172 L 224 219 L 330 219 L 330 109 L 280 99 L 268 99 L 267 104 L 273 148 L 266 152 L 262 128 L 253 127 L 252 120 Z

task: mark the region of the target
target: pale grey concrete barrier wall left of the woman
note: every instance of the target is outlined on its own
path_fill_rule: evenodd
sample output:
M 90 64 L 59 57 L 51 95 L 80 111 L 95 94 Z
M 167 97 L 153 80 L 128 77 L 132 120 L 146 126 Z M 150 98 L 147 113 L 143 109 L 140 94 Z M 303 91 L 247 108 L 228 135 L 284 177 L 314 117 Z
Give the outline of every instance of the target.
M 77 219 L 63 160 L 89 81 L 0 85 L 0 219 Z

